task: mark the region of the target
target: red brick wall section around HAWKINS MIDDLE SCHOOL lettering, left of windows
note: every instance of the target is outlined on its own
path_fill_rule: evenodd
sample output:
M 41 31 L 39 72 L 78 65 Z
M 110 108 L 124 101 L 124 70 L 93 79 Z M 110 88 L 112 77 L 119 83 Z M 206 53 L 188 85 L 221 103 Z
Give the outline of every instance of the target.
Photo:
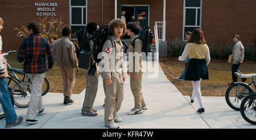
M 36 16 L 37 7 L 35 2 L 53 2 L 57 3 L 56 15 L 48 16 L 48 20 L 52 17 L 61 19 L 65 24 L 69 24 L 69 1 L 63 0 L 22 0 L 22 1 L 0 1 L 0 17 L 3 18 L 3 30 L 1 36 L 3 39 L 3 51 L 18 50 L 24 37 L 16 36 L 18 31 L 14 28 L 21 28 L 22 25 L 27 26 L 31 22 L 39 22 L 45 16 Z

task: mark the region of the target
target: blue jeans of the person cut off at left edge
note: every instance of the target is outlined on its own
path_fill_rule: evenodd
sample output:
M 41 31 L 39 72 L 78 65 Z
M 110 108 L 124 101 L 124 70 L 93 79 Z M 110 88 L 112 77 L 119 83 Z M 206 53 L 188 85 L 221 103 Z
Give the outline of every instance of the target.
M 11 103 L 11 95 L 8 91 L 6 78 L 0 79 L 0 101 L 2 104 L 3 112 L 5 112 L 6 123 L 14 122 L 17 118 L 13 104 Z

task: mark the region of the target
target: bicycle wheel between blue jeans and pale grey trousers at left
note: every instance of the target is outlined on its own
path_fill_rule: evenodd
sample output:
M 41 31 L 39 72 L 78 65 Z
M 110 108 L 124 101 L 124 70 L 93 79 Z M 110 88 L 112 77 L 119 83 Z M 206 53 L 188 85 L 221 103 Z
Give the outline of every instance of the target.
M 11 90 L 14 104 L 20 108 L 28 107 L 30 103 L 32 84 L 30 82 L 19 82 Z

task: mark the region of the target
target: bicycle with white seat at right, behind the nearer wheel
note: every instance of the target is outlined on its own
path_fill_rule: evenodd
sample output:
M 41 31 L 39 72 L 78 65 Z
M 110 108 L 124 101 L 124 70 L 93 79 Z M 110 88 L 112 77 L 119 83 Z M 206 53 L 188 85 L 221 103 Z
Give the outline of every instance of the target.
M 251 84 L 254 84 L 254 87 L 256 88 L 255 85 L 255 79 L 256 79 L 256 74 L 241 74 L 240 71 L 235 72 L 235 75 L 239 78 L 239 82 L 234 82 L 229 86 L 229 88 L 226 90 L 225 94 L 225 99 L 226 103 L 228 103 L 229 107 L 236 110 L 240 111 L 240 106 L 242 100 L 251 94 L 254 94 L 253 88 L 251 88 Z M 240 82 L 241 78 L 250 78 L 251 77 L 251 82 L 249 84 Z

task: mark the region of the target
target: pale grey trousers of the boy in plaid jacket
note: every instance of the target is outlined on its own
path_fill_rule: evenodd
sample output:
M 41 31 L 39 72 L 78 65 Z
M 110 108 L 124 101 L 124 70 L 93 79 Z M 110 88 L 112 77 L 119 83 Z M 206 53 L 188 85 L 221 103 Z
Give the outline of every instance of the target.
M 42 111 L 42 86 L 44 82 L 44 75 L 42 74 L 27 74 L 28 78 L 30 78 L 32 82 L 32 90 L 30 103 L 28 104 L 27 109 L 27 120 L 35 120 L 36 113 L 38 111 Z

